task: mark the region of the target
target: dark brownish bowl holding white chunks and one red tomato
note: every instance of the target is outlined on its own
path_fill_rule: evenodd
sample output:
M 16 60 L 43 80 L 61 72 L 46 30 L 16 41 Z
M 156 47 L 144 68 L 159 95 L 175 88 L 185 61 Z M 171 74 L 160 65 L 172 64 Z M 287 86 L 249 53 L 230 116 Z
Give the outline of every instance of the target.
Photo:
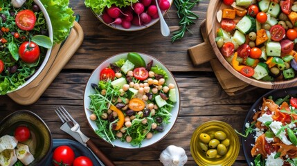
M 1 120 L 0 137 L 6 134 L 13 136 L 15 128 L 19 125 L 25 125 L 30 129 L 30 140 L 33 141 L 25 142 L 35 158 L 30 165 L 37 165 L 37 163 L 43 162 L 47 158 L 52 147 L 51 131 L 46 126 L 46 123 L 42 118 L 31 111 L 15 111 Z

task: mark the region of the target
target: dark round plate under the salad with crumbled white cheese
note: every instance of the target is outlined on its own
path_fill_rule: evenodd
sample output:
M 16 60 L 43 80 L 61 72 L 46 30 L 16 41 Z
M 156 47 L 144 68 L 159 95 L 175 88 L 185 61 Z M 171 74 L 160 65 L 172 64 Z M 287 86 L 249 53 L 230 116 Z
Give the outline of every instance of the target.
M 255 113 L 254 111 L 258 111 L 259 108 L 262 106 L 263 98 L 267 98 L 271 95 L 273 97 L 273 100 L 276 100 L 278 98 L 284 98 L 286 95 L 296 95 L 296 94 L 297 94 L 297 86 L 289 89 L 276 89 L 262 95 L 262 97 L 260 97 L 253 104 L 248 114 L 246 115 L 246 119 L 244 120 L 244 125 L 242 128 L 242 133 L 245 134 L 246 122 L 249 122 L 251 124 L 251 122 L 253 121 L 253 115 Z M 248 165 L 251 165 L 251 163 L 255 165 L 255 163 L 253 162 L 255 158 L 251 156 L 251 149 L 253 148 L 251 144 L 253 145 L 255 144 L 255 138 L 253 138 L 253 136 L 255 136 L 255 133 L 249 134 L 249 136 L 247 136 L 246 138 L 242 137 L 242 148 L 244 150 L 244 156 L 246 158 L 246 162 L 248 163 Z

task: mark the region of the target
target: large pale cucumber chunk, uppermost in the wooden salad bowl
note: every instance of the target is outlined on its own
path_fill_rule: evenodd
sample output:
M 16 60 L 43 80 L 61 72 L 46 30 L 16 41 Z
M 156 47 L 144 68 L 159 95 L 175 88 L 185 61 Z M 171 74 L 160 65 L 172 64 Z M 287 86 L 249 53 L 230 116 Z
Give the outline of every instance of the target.
M 244 34 L 255 32 L 255 19 L 249 15 L 245 15 L 240 19 L 235 28 Z

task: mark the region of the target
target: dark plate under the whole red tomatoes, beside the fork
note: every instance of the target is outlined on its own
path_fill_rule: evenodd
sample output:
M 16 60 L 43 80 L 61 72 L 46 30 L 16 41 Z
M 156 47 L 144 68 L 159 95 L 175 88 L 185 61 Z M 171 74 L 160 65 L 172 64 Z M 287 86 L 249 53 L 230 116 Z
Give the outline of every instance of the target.
M 67 145 L 73 149 L 75 153 L 75 158 L 78 156 L 87 156 L 89 157 L 93 165 L 100 166 L 100 163 L 96 160 L 96 158 L 93 156 L 91 151 L 87 149 L 87 147 L 84 147 L 84 145 L 80 144 L 80 142 L 76 142 L 74 140 L 69 140 L 69 139 L 53 139 L 53 149 L 51 150 L 51 154 L 48 156 L 47 160 L 42 165 L 46 166 L 52 166 L 52 158 L 53 158 L 53 151 L 55 150 L 56 147 L 59 147 L 61 145 Z

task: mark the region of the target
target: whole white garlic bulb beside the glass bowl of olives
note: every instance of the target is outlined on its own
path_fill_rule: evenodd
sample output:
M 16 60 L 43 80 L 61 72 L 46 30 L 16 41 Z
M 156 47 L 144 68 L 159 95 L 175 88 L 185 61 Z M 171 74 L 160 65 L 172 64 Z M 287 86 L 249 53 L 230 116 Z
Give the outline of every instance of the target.
M 159 160 L 164 166 L 183 166 L 187 163 L 188 156 L 183 148 L 169 145 L 162 151 Z

